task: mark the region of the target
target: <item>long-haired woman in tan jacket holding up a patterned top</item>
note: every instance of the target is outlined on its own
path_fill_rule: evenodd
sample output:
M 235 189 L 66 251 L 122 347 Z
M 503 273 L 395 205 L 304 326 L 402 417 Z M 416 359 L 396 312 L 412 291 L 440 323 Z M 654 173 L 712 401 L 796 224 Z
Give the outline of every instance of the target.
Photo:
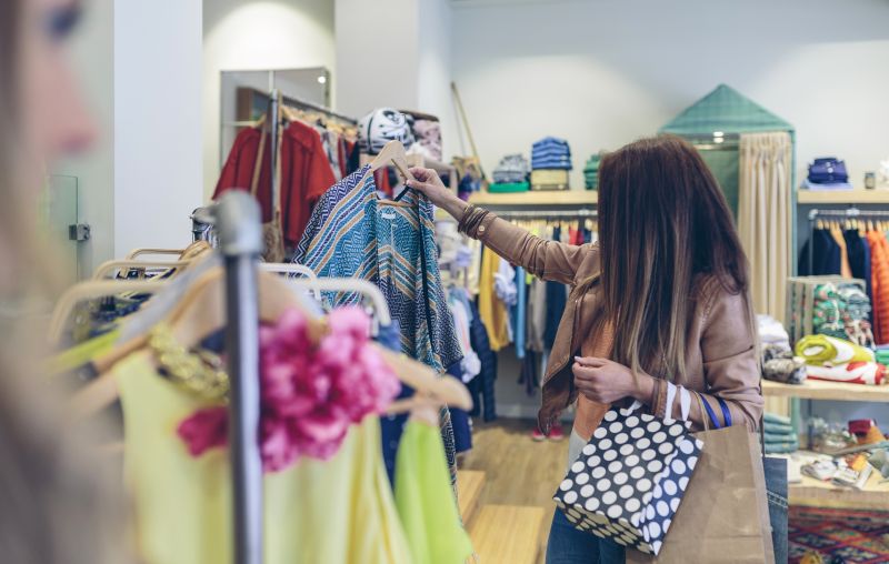
M 569 463 L 611 403 L 638 400 L 678 419 L 668 387 L 690 401 L 696 429 L 758 429 L 762 393 L 748 262 L 726 198 L 700 154 L 671 135 L 602 158 L 598 244 L 546 241 L 469 205 L 434 171 L 420 190 L 459 229 L 528 272 L 570 284 L 543 377 L 543 433 L 577 401 Z M 668 384 L 669 383 L 669 384 Z M 688 394 L 686 393 L 688 392 Z M 672 394 L 670 394 L 672 395 Z M 575 530 L 557 510 L 550 564 L 623 562 L 623 550 Z

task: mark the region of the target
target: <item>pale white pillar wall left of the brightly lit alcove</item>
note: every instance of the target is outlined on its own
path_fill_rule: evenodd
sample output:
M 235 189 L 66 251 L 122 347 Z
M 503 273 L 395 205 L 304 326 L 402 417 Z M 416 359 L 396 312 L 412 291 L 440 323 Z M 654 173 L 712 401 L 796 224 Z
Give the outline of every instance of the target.
M 201 4 L 114 2 L 114 253 L 182 248 L 201 203 Z

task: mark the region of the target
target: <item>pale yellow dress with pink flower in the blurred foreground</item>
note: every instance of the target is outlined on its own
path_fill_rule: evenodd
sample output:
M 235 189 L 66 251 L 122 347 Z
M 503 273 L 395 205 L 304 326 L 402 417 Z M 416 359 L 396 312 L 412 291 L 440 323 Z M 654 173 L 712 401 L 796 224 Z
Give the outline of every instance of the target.
M 232 562 L 228 450 L 192 457 L 176 430 L 211 405 L 158 374 L 150 356 L 120 362 L 124 472 L 139 554 L 148 564 Z M 354 425 L 330 461 L 264 475 L 266 564 L 401 564 L 410 552 L 380 452 L 379 420 Z

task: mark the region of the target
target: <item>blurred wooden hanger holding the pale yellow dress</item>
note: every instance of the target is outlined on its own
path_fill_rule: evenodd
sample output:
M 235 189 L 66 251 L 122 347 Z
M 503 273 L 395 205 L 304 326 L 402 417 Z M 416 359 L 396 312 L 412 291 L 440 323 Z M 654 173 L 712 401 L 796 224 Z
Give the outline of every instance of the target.
M 287 282 L 276 274 L 259 271 L 259 319 L 274 323 L 288 309 L 303 311 L 296 295 L 287 288 Z M 196 348 L 204 338 L 226 325 L 224 308 L 224 270 L 217 268 L 207 272 L 186 293 L 178 306 L 168 316 L 173 338 L 186 349 Z M 327 323 L 309 319 L 309 336 L 313 342 L 327 332 Z M 96 413 L 110 404 L 118 395 L 117 384 L 109 370 L 120 360 L 143 349 L 148 335 L 137 338 L 134 342 L 124 344 L 104 360 L 104 366 L 96 366 L 102 374 L 74 395 L 71 402 L 76 416 Z M 373 345 L 379 346 L 379 345 Z M 472 400 L 466 386 L 451 376 L 439 377 L 429 366 L 380 348 L 387 364 L 399 380 L 411 386 L 421 397 L 432 397 L 460 409 L 470 410 Z M 153 360 L 153 357 L 152 357 Z

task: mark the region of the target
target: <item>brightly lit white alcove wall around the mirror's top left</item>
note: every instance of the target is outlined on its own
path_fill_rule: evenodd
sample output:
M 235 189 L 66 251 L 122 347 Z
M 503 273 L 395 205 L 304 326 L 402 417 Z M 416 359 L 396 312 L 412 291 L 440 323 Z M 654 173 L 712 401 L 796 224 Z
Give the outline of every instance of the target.
M 332 0 L 203 0 L 204 199 L 220 170 L 220 72 L 306 67 L 337 80 Z

